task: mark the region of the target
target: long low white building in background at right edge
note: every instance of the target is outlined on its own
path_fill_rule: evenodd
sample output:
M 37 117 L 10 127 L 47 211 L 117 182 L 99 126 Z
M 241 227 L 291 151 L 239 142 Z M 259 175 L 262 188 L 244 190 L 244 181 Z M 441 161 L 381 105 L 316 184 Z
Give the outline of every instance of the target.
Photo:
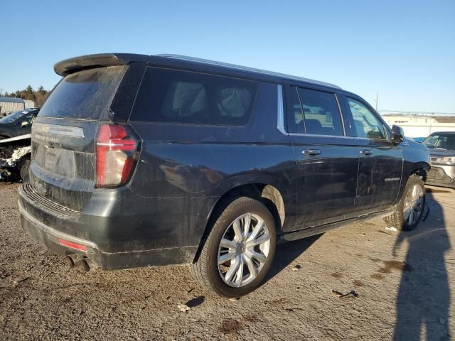
M 405 129 L 407 137 L 426 137 L 435 131 L 455 131 L 454 114 L 382 113 L 382 118 Z

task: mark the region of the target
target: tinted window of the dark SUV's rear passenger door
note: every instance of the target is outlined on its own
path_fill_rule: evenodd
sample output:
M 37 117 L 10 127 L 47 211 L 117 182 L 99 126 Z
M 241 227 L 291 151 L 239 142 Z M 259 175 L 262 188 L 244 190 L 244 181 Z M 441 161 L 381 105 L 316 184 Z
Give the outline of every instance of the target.
M 343 124 L 335 94 L 299 88 L 301 110 L 294 109 L 291 133 L 343 136 Z M 294 105 L 296 107 L 296 104 Z

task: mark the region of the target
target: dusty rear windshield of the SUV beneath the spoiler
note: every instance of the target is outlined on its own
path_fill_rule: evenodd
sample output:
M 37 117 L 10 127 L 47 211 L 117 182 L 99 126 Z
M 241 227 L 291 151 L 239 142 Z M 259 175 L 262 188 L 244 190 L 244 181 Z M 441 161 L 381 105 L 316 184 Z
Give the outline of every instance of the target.
M 38 116 L 100 119 L 119 86 L 127 66 L 100 67 L 66 76 L 45 101 Z

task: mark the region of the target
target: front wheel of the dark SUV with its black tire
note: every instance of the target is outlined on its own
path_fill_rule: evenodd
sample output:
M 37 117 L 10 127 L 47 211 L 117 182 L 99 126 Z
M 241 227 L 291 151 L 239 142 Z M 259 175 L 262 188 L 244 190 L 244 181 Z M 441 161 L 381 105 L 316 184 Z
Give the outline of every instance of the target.
M 414 209 L 413 219 L 410 220 L 410 215 L 405 213 L 405 208 L 406 211 L 409 212 L 407 207 L 410 207 L 413 202 L 410 202 L 408 199 L 408 195 L 412 195 L 412 190 L 413 188 L 417 188 L 419 193 L 422 194 L 422 197 L 419 201 L 415 201 L 415 204 L 418 204 Z M 407 180 L 407 184 L 405 187 L 405 190 L 403 191 L 403 195 L 400 199 L 400 202 L 398 202 L 397 205 L 397 210 L 393 215 L 390 215 L 389 217 L 385 217 L 384 220 L 387 223 L 387 227 L 396 227 L 397 229 L 401 229 L 402 231 L 411 231 L 415 227 L 417 227 L 417 224 L 419 224 L 420 220 L 422 220 L 423 212 L 424 212 L 424 207 L 425 207 L 425 186 L 424 182 L 422 181 L 422 178 L 420 178 L 417 175 L 411 175 L 410 178 Z

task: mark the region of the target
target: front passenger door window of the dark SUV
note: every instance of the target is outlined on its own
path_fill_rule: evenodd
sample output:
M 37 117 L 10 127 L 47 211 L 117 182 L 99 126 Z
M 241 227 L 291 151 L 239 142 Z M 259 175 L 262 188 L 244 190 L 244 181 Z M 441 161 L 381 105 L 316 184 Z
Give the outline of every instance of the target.
M 384 126 L 365 104 L 348 97 L 350 112 L 353 114 L 355 132 L 358 137 L 386 140 Z

